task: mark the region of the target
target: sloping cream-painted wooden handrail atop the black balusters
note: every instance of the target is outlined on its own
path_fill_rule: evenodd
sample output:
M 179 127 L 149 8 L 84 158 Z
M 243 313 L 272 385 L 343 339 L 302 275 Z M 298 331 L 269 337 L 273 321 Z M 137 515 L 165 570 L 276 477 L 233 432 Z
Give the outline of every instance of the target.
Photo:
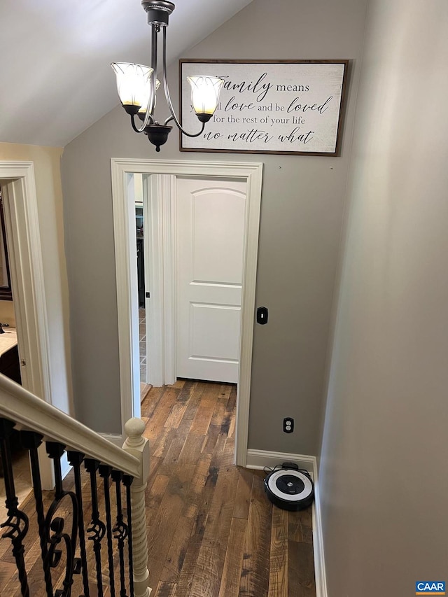
M 21 430 L 40 433 L 44 440 L 64 444 L 66 449 L 82 452 L 87 458 L 94 458 L 132 477 L 141 476 L 139 458 L 37 398 L 3 374 L 0 374 L 0 416 L 14 421 Z

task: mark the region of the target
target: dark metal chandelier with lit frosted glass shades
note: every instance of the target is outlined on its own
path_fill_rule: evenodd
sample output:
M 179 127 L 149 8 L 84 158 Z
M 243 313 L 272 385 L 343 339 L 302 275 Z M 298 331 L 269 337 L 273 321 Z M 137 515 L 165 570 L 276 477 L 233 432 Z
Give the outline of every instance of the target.
M 193 110 L 202 122 L 202 127 L 194 134 L 186 132 L 174 112 L 167 83 L 167 27 L 169 15 L 174 10 L 174 3 L 165 0 L 142 0 L 141 6 L 148 13 L 148 24 L 151 25 L 151 66 L 131 62 L 112 62 L 111 66 L 116 73 L 121 105 L 130 114 L 132 128 L 137 133 L 146 134 L 148 140 L 155 145 L 155 150 L 160 151 L 160 146 L 166 143 L 169 132 L 173 128 L 169 126 L 172 120 L 187 136 L 199 136 L 202 133 L 205 123 L 210 120 L 218 106 L 223 79 L 205 75 L 187 78 L 191 85 Z M 171 113 L 162 125 L 155 120 L 154 116 L 155 94 L 160 86 L 160 81 L 157 79 L 160 31 L 162 31 L 162 81 Z M 141 120 L 141 125 L 136 124 L 136 115 Z

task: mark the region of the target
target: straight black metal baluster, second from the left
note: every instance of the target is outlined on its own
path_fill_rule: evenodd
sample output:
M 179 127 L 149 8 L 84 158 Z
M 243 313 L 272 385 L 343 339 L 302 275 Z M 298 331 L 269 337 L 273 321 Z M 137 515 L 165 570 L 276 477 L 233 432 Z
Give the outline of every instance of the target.
M 29 450 L 31 461 L 31 477 L 33 479 L 34 501 L 36 503 L 37 525 L 39 531 L 39 541 L 41 543 L 43 577 L 45 579 L 45 589 L 47 597 L 53 597 L 53 587 L 51 580 L 50 562 L 48 561 L 48 533 L 45 527 L 45 514 L 43 512 L 41 470 L 38 460 L 38 447 L 42 443 L 42 435 L 32 431 L 21 431 L 20 441 L 22 446 Z

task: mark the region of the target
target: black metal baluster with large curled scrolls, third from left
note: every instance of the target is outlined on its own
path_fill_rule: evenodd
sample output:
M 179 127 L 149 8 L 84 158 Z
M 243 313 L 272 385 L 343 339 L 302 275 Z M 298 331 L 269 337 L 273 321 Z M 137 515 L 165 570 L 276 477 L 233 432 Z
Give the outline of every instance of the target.
M 61 551 L 56 549 L 56 547 L 64 541 L 66 549 L 66 570 L 64 580 L 62 581 L 64 589 L 57 589 L 57 591 L 55 591 L 55 597 L 70 597 L 73 574 L 80 573 L 80 559 L 75 557 L 76 538 L 78 533 L 78 500 L 75 493 L 72 491 L 64 491 L 64 487 L 62 486 L 61 457 L 65 451 L 64 445 L 57 442 L 47 442 L 46 447 L 48 456 L 52 458 L 53 470 L 55 472 L 55 499 L 53 500 L 52 505 L 50 505 L 47 516 L 45 517 L 47 528 L 50 528 L 51 531 L 53 531 L 53 535 L 50 537 L 48 559 L 50 561 L 50 566 L 55 568 L 61 559 Z M 60 503 L 66 496 L 71 499 L 72 506 L 71 535 L 64 533 L 64 519 L 62 517 L 53 519 Z

